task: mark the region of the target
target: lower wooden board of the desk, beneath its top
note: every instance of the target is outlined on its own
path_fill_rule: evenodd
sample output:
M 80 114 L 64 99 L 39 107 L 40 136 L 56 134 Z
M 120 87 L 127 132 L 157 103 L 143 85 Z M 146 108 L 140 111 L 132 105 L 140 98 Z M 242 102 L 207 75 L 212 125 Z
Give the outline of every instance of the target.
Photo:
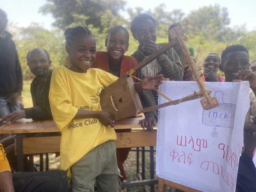
M 145 147 L 156 145 L 156 131 L 154 132 L 124 132 L 116 133 L 116 148 Z M 25 137 L 23 138 L 23 154 L 53 153 L 60 151 L 61 136 Z M 15 141 L 16 142 L 16 141 Z M 16 151 L 16 145 L 15 145 Z

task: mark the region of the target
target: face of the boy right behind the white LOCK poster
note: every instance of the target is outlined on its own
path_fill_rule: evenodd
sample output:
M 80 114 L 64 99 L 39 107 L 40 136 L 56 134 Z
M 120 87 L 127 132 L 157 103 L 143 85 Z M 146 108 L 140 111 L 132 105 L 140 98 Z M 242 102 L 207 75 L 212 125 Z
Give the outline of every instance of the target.
M 225 74 L 225 81 L 232 82 L 238 80 L 238 71 L 249 69 L 249 55 L 244 51 L 229 52 L 225 56 L 223 64 L 220 64 L 220 70 Z

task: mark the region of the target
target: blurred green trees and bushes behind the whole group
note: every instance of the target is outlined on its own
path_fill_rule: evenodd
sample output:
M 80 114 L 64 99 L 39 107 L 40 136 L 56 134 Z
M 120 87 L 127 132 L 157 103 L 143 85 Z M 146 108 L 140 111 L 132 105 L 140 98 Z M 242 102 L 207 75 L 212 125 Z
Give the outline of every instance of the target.
M 231 44 L 244 45 L 250 54 L 250 61 L 256 60 L 256 31 L 248 32 L 246 26 L 229 27 L 228 9 L 219 4 L 200 7 L 189 13 L 181 10 L 168 11 L 164 4 L 151 10 L 141 7 L 124 10 L 124 0 L 48 0 L 39 12 L 51 13 L 56 19 L 54 28 L 47 30 L 37 23 L 26 28 L 16 27 L 9 23 L 7 30 L 12 33 L 17 46 L 24 79 L 31 79 L 26 56 L 33 48 L 43 48 L 52 60 L 52 68 L 62 65 L 67 55 L 65 51 L 64 31 L 78 25 L 87 26 L 96 38 L 97 50 L 105 51 L 105 39 L 108 29 L 122 25 L 130 33 L 129 49 L 125 53 L 131 55 L 137 50 L 138 42 L 132 37 L 130 24 L 140 13 L 148 13 L 156 20 L 156 43 L 168 41 L 168 28 L 173 23 L 180 23 L 188 37 L 187 44 L 195 49 L 195 60 L 199 67 L 209 53 L 221 52 Z M 120 14 L 127 12 L 128 18 Z

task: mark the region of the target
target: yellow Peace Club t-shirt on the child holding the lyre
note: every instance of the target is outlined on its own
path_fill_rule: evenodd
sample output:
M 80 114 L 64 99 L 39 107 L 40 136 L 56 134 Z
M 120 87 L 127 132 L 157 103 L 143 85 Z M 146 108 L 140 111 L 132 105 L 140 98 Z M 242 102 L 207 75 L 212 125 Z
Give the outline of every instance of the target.
M 52 73 L 49 100 L 53 120 L 62 134 L 60 168 L 68 170 L 96 146 L 116 140 L 116 132 L 97 118 L 73 119 L 78 109 L 101 110 L 100 92 L 118 77 L 101 69 L 76 73 L 59 66 Z M 68 173 L 69 174 L 69 173 Z

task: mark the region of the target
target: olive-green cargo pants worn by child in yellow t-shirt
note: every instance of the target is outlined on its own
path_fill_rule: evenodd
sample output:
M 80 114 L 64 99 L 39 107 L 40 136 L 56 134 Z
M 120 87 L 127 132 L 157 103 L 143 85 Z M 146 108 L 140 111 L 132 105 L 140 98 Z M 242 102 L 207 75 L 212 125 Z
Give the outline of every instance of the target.
M 109 140 L 93 148 L 71 167 L 73 192 L 93 192 L 95 180 L 98 192 L 120 192 L 116 145 Z

